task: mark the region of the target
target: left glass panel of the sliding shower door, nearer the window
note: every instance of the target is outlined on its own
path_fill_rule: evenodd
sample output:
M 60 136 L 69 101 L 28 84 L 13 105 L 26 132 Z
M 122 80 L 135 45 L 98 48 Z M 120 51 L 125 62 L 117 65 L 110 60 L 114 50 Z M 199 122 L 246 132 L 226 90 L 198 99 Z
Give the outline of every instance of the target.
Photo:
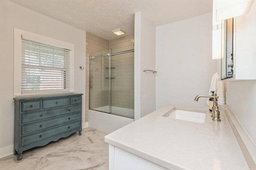
M 90 55 L 90 109 L 111 113 L 110 50 Z

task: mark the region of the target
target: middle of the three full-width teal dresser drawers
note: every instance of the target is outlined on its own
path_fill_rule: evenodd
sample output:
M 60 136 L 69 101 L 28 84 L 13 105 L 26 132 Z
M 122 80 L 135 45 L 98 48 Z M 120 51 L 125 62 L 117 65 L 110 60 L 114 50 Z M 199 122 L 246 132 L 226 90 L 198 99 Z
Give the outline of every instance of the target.
M 23 125 L 21 127 L 21 134 L 25 135 L 27 133 L 31 133 L 31 132 L 34 132 L 34 131 L 39 131 L 39 130 L 42 130 L 42 129 L 46 129 L 48 127 L 61 125 L 63 123 L 68 123 L 68 122 L 72 122 L 72 121 L 75 121 L 75 120 L 80 120 L 80 113 L 75 113 L 75 114 L 72 114 L 72 115 L 66 115 L 66 116 L 63 116 L 63 117 L 56 117 L 54 119 L 50 119 L 50 120 L 47 120 L 47 121 L 40 121 L 40 122 L 32 123 L 32 124 L 29 124 L 29 125 Z

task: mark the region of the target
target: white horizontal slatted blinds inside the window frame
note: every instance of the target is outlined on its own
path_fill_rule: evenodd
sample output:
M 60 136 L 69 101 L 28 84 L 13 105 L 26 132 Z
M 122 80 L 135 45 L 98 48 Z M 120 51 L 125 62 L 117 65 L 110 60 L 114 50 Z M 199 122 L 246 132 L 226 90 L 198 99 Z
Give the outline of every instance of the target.
M 70 50 L 22 39 L 21 93 L 70 91 Z

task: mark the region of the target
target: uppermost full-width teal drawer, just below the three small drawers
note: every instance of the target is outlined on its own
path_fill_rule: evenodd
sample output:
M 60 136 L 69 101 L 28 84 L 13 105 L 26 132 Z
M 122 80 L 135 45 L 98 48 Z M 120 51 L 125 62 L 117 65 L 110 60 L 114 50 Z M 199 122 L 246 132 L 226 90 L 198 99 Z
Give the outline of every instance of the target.
M 21 117 L 21 122 L 26 123 L 30 121 L 42 120 L 49 117 L 54 117 L 58 115 L 64 115 L 67 113 L 74 113 L 81 111 L 81 105 L 67 106 L 59 109 L 50 109 L 45 111 L 36 111 L 34 113 L 23 113 Z

